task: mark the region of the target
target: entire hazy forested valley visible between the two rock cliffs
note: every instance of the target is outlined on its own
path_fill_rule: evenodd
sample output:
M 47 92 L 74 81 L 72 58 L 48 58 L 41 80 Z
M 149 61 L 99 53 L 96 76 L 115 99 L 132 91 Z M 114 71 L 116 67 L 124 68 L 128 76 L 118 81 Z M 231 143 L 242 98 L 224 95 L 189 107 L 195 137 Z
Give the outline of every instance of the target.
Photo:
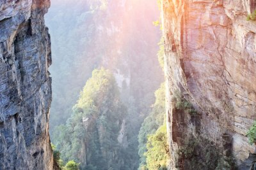
M 53 42 L 50 133 L 56 162 L 62 169 L 166 168 L 157 2 L 51 5 L 46 22 Z

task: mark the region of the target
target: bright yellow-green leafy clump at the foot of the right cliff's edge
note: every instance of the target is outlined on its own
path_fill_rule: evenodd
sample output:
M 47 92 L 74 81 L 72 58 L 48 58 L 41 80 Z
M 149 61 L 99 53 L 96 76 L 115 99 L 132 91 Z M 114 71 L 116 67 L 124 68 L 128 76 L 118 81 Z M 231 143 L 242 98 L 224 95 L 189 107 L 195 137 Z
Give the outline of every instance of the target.
M 167 169 L 167 162 L 169 159 L 169 146 L 167 143 L 166 125 L 157 129 L 154 134 L 148 136 L 147 141 L 147 168 L 154 169 Z

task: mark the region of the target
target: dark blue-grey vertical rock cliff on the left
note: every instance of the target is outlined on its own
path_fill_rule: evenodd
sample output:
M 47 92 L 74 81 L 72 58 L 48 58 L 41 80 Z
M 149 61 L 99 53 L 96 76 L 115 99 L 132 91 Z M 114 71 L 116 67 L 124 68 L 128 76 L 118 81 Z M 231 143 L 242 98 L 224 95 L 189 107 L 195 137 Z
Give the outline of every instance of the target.
M 0 169 L 52 169 L 49 5 L 0 2 Z

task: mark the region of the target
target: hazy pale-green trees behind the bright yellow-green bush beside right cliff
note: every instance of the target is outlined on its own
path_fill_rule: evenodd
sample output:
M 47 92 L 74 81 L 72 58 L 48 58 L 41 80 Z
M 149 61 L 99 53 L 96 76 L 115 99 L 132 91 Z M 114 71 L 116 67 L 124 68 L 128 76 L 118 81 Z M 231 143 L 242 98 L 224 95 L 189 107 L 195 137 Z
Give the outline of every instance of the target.
M 155 92 L 156 101 L 152 106 L 152 111 L 145 118 L 138 135 L 139 141 L 139 155 L 140 155 L 140 169 L 147 167 L 147 159 L 145 153 L 147 152 L 147 136 L 154 134 L 161 125 L 165 124 L 165 89 L 164 83 Z M 143 168 L 144 167 L 144 168 Z

